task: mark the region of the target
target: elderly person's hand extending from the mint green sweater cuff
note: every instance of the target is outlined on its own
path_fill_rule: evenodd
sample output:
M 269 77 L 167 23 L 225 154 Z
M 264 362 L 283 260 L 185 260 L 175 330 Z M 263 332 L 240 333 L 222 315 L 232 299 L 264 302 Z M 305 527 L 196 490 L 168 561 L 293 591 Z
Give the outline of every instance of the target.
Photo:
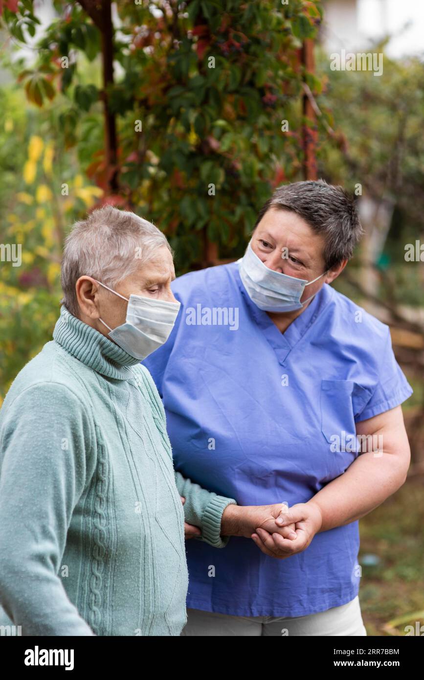
M 285 522 L 284 526 L 276 524 L 277 517 L 285 518 L 287 505 L 275 503 L 275 505 L 228 505 L 222 513 L 221 535 L 244 536 L 251 538 L 253 532 L 262 528 L 266 532 L 278 532 L 280 537 L 296 539 L 294 522 Z

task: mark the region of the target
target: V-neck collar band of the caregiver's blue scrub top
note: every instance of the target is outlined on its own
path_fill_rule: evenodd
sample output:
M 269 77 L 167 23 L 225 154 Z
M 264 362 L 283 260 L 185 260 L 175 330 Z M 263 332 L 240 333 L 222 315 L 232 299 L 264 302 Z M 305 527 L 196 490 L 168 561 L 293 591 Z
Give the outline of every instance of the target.
M 333 289 L 328 284 L 324 284 L 323 288 L 321 288 L 321 290 L 319 290 L 315 295 L 314 299 L 311 300 L 311 303 L 308 305 L 308 307 L 306 307 L 306 309 L 292 321 L 284 333 L 281 333 L 281 330 L 277 328 L 266 311 L 260 309 L 257 305 L 255 305 L 255 303 L 251 301 L 249 294 L 247 293 L 247 290 L 245 289 L 245 286 L 241 280 L 239 265 L 237 262 L 234 262 L 233 265 L 234 277 L 239 289 L 241 290 L 243 299 L 245 300 L 245 303 L 249 309 L 249 313 L 255 320 L 256 324 L 258 324 L 259 328 L 262 330 L 262 333 L 264 333 L 264 336 L 266 337 L 268 343 L 270 343 L 272 349 L 275 351 L 279 363 L 284 365 L 285 359 L 289 353 L 302 339 L 308 328 L 312 326 L 323 308 L 326 307 L 328 303 L 330 303 L 330 300 L 334 294 Z M 232 267 L 233 265 L 230 266 Z

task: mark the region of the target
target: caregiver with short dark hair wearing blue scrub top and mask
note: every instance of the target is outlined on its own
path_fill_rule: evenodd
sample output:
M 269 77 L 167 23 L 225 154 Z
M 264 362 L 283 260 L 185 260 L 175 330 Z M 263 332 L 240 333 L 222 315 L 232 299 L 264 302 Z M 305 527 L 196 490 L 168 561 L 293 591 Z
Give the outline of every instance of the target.
M 144 363 L 175 468 L 240 505 L 285 501 L 297 534 L 190 541 L 183 635 L 366 635 L 357 520 L 405 481 L 412 390 L 388 326 L 328 285 L 360 235 L 341 187 L 281 186 L 241 260 L 173 283 L 179 322 Z

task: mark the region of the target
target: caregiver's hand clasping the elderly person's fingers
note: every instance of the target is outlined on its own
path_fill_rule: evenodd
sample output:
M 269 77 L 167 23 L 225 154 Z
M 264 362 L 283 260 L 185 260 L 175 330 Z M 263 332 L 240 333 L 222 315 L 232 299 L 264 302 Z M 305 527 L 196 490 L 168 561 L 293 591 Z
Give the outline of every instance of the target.
M 287 541 L 281 537 L 280 532 L 270 532 L 259 527 L 251 538 L 258 548 L 270 557 L 283 560 L 286 557 L 296 555 L 306 549 L 313 537 L 321 529 L 322 515 L 319 507 L 312 500 L 308 503 L 297 503 L 281 513 L 275 520 L 277 526 L 296 526 L 296 540 Z

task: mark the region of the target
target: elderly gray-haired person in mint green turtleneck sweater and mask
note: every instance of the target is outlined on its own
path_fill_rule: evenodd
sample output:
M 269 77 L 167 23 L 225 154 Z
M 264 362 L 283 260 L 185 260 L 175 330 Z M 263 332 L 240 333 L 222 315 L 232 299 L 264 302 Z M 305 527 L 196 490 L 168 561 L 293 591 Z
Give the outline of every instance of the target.
M 215 549 L 260 526 L 294 534 L 275 524 L 281 500 L 234 514 L 234 498 L 174 472 L 162 403 L 139 364 L 173 328 L 174 277 L 164 235 L 133 213 L 96 210 L 67 238 L 54 339 L 0 411 L 0 624 L 178 636 L 184 519 Z

